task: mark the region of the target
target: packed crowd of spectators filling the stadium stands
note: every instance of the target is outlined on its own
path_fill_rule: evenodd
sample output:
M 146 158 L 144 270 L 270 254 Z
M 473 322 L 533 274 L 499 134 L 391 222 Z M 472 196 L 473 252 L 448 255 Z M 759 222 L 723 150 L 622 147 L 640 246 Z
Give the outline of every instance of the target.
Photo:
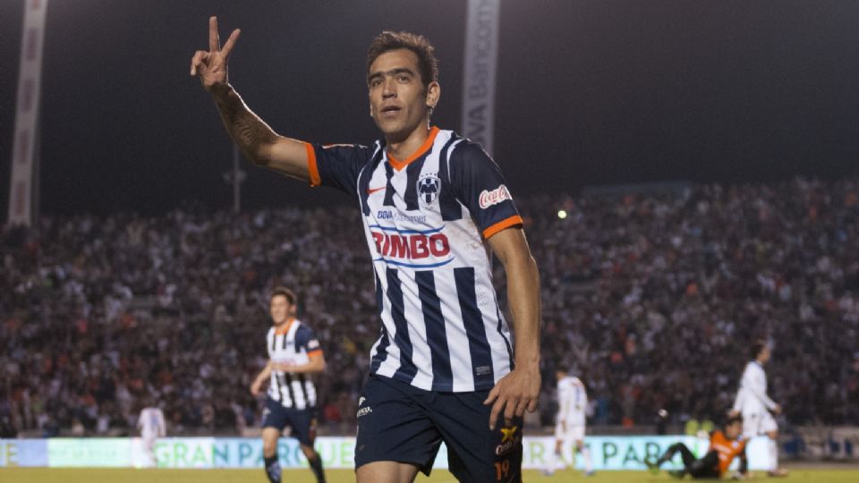
M 859 424 L 859 180 L 517 205 L 543 284 L 544 424 L 558 366 L 596 423 L 720 414 L 755 338 L 787 422 Z M 5 426 L 123 434 L 146 403 L 171 434 L 258 425 L 248 387 L 286 285 L 325 349 L 320 419 L 352 428 L 379 330 L 353 208 L 45 216 L 0 245 Z

